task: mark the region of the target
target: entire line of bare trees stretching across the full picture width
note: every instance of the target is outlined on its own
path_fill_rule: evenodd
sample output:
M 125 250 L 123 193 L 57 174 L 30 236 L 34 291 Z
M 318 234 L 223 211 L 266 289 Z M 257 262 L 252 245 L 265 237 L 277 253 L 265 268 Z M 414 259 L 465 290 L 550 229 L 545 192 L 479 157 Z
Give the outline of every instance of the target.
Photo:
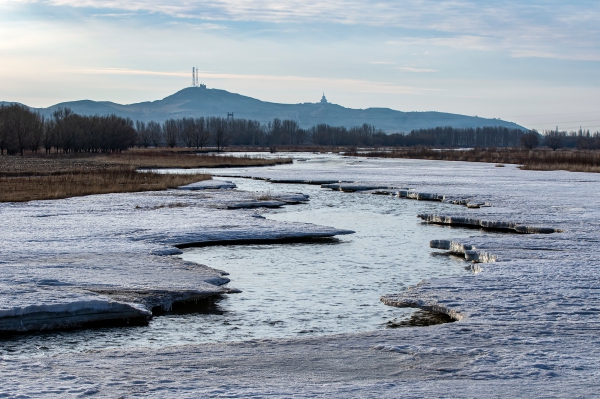
M 356 146 L 356 147 L 526 147 L 540 144 L 557 149 L 600 148 L 600 135 L 589 131 L 544 132 L 506 127 L 436 127 L 412 130 L 408 134 L 386 134 L 373 125 L 351 128 L 318 124 L 300 128 L 294 120 L 273 119 L 260 123 L 250 119 L 221 117 L 168 119 L 133 122 L 116 115 L 83 116 L 68 108 L 55 110 L 50 117 L 13 104 L 0 107 L 0 154 L 24 151 L 115 152 L 138 147 L 228 146 Z

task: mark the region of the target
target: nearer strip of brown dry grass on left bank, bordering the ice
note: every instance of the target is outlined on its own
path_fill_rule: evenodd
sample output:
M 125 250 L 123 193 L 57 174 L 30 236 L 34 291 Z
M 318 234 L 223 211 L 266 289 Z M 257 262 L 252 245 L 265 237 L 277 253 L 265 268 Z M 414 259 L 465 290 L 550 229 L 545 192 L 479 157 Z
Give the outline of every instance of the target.
M 98 170 L 73 169 L 60 174 L 37 176 L 0 176 L 0 202 L 164 190 L 210 178 L 207 174 L 139 173 L 126 166 Z

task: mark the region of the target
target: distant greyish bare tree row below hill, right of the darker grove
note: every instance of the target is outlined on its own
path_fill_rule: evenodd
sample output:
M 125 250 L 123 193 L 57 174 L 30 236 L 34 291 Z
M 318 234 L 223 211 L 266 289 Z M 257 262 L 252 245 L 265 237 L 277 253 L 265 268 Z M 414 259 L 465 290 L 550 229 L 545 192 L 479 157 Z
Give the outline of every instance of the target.
M 169 119 L 162 126 L 156 122 L 137 122 L 136 128 L 143 147 L 202 148 L 211 144 L 218 149 L 227 145 L 514 147 L 519 146 L 521 136 L 526 133 L 505 127 L 438 127 L 413 130 L 409 134 L 386 134 L 366 123 L 349 129 L 327 124 L 302 129 L 294 120 L 275 118 L 261 124 L 254 120 L 219 117 Z

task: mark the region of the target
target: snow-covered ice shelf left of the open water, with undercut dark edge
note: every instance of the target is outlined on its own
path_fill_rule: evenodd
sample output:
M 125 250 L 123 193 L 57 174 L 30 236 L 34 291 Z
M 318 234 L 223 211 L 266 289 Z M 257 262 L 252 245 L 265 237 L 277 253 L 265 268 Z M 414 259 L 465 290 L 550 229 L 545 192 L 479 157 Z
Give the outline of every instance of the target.
M 139 323 L 154 307 L 232 291 L 225 272 L 167 256 L 180 253 L 177 246 L 350 233 L 227 210 L 274 201 L 209 190 L 232 187 L 210 182 L 203 191 L 0 204 L 0 332 Z M 285 193 L 272 198 L 278 206 L 308 200 Z

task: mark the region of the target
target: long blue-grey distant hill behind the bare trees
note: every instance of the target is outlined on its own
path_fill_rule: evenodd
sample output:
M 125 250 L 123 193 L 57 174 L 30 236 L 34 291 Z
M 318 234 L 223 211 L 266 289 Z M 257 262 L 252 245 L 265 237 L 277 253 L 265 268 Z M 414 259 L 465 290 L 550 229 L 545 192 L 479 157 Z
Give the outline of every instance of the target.
M 388 133 L 409 132 L 438 126 L 477 128 L 503 126 L 526 130 L 513 122 L 444 112 L 401 112 L 390 108 L 352 109 L 331 103 L 277 104 L 219 89 L 189 87 L 162 100 L 122 105 L 109 101 L 71 101 L 38 109 L 50 116 L 59 107 L 83 115 L 116 114 L 135 120 L 163 122 L 169 118 L 220 116 L 266 123 L 274 118 L 294 119 L 301 127 L 319 123 L 352 127 L 368 123 Z

